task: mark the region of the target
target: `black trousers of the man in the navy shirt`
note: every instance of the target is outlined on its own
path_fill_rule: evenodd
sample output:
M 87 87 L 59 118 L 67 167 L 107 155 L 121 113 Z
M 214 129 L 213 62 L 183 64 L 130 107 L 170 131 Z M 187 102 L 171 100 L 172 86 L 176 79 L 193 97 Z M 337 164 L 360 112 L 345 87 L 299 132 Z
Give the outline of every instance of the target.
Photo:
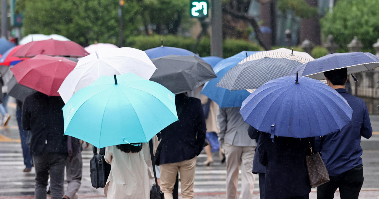
M 358 199 L 363 185 L 362 165 L 345 171 L 341 175 L 329 177 L 329 182 L 317 187 L 318 199 L 333 199 L 337 188 L 340 188 L 341 199 Z

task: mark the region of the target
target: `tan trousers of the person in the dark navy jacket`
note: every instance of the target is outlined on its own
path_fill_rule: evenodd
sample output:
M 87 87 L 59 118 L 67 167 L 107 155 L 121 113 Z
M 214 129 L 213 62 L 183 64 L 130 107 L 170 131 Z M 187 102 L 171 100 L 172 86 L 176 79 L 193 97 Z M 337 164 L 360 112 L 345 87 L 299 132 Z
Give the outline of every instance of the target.
M 193 181 L 195 179 L 196 157 L 176 163 L 160 165 L 161 191 L 165 199 L 172 199 L 176 175 L 180 173 L 180 188 L 183 199 L 193 199 Z

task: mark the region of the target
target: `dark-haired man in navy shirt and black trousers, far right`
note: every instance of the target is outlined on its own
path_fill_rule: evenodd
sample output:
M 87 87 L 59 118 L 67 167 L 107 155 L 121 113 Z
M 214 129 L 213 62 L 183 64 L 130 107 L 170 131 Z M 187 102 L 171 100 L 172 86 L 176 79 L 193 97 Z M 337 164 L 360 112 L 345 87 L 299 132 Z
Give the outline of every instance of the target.
M 317 187 L 318 199 L 332 199 L 337 188 L 341 199 L 358 199 L 363 184 L 362 148 L 360 136 L 370 138 L 373 129 L 366 103 L 354 97 L 345 89 L 348 77 L 346 68 L 324 72 L 327 84 L 334 88 L 353 110 L 351 122 L 341 131 L 316 137 L 315 145 L 319 147 L 321 158 L 330 175 L 330 182 Z

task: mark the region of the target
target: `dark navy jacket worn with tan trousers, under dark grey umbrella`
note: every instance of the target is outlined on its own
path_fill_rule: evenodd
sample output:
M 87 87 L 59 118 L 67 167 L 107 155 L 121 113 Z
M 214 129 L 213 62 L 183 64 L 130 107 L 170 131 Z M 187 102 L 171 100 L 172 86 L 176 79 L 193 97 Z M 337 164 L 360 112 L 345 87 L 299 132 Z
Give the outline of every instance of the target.
M 161 165 L 191 160 L 203 149 L 207 127 L 200 100 L 177 94 L 175 105 L 179 121 L 161 131 Z

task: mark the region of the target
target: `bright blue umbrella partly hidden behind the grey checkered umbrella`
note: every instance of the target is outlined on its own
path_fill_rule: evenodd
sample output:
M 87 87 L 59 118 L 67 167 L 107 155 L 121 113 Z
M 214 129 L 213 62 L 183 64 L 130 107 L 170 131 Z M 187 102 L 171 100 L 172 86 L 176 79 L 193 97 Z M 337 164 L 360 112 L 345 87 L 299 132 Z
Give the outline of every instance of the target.
M 226 74 L 226 72 L 236 66 L 238 62 L 242 61 L 248 55 L 252 55 L 257 52 L 258 51 L 242 51 L 220 61 L 213 67 L 217 77 L 205 83 L 201 94 L 216 102 L 220 108 L 241 107 L 243 100 L 250 95 L 250 92 L 246 90 L 229 91 L 228 89 L 215 86 Z

